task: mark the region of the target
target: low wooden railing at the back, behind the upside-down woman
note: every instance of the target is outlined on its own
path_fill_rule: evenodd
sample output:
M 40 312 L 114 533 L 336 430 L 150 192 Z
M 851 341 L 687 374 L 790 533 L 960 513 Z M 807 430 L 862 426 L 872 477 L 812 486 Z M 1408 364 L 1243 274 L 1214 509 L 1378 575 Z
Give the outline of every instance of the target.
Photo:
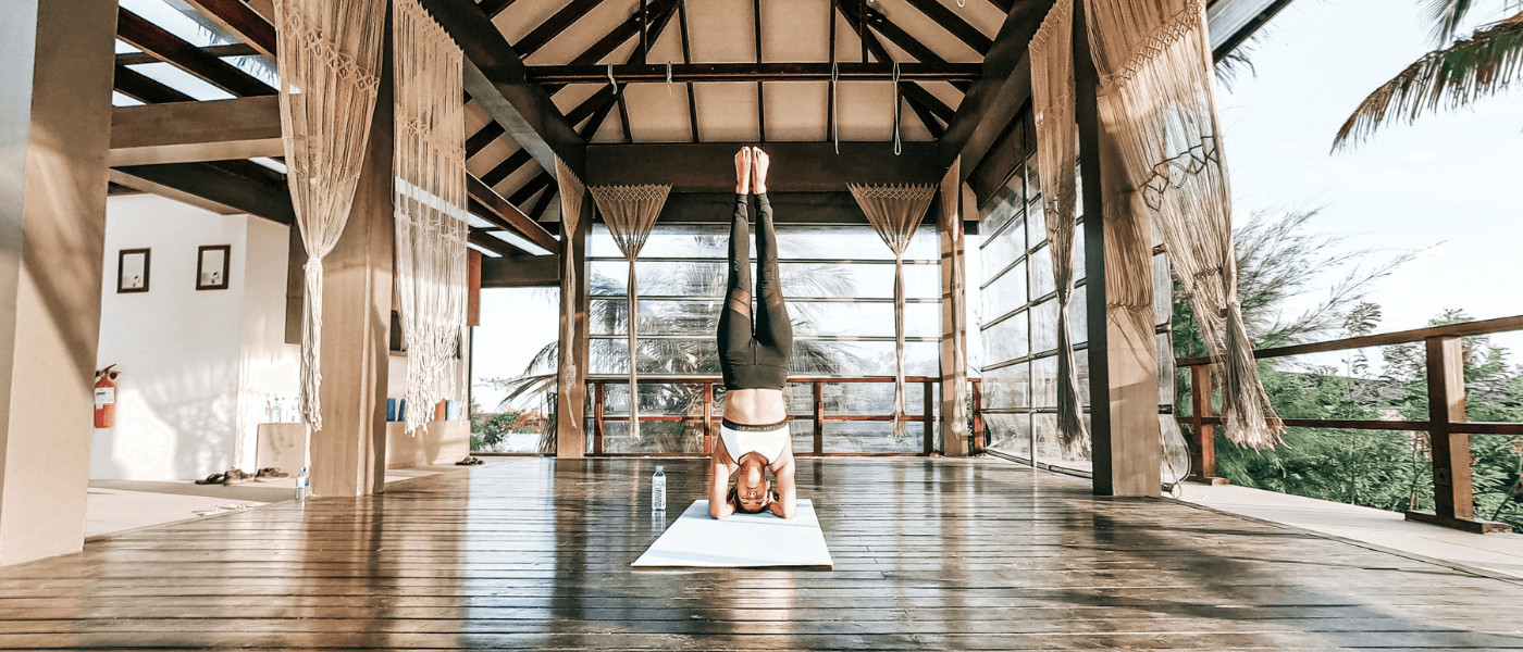
M 793 451 L 800 456 L 894 456 L 894 454 L 932 454 L 935 453 L 935 401 L 938 398 L 937 385 L 941 381 L 937 377 L 926 375 L 906 375 L 905 385 L 918 383 L 924 389 L 923 407 L 918 415 L 906 413 L 905 421 L 920 421 L 924 424 L 921 435 L 921 453 L 825 453 L 824 451 L 824 436 L 825 436 L 825 421 L 894 421 L 892 415 L 832 415 L 825 413 L 825 385 L 847 385 L 847 383 L 892 383 L 894 377 L 888 375 L 859 375 L 859 377 L 798 377 L 787 378 L 790 385 L 810 385 L 813 386 L 813 410 L 807 415 L 787 415 L 789 421 L 810 419 L 815 432 L 815 442 L 810 451 Z M 661 456 L 698 456 L 698 453 L 608 453 L 605 450 L 605 436 L 608 432 L 606 423 L 609 421 L 629 421 L 629 415 L 609 415 L 606 413 L 606 398 L 609 385 L 627 385 L 626 378 L 588 378 L 589 397 L 592 397 L 592 454 L 597 456 L 644 456 L 644 454 L 661 454 Z M 661 377 L 661 378 L 641 378 L 640 385 L 699 385 L 702 386 L 704 410 L 698 415 L 640 415 L 640 423 L 656 423 L 656 421 L 681 421 L 681 423 L 702 423 L 704 424 L 704 453 L 711 454 L 714 451 L 714 436 L 719 435 L 720 416 L 714 410 L 714 386 L 720 385 L 719 378 L 714 377 Z M 909 406 L 905 406 L 906 410 Z

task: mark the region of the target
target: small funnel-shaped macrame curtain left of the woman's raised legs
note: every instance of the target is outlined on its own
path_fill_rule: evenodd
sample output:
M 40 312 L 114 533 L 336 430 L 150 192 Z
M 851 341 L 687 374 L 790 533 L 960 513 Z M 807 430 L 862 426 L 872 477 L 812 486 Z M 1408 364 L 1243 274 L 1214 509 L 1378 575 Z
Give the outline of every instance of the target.
M 661 207 L 672 185 L 600 185 L 591 187 L 592 201 L 603 213 L 603 222 L 614 236 L 618 251 L 629 261 L 629 436 L 640 439 L 640 385 L 635 374 L 638 359 L 640 298 L 635 284 L 635 258 L 646 246 L 646 237 L 661 216 Z

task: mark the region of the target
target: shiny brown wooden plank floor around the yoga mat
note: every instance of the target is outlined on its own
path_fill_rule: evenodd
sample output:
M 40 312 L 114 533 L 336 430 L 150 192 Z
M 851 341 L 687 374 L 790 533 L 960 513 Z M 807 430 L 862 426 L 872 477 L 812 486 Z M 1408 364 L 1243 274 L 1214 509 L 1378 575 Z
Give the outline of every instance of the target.
M 800 461 L 833 571 L 632 573 L 702 465 L 510 459 L 0 570 L 0 649 L 1518 649 L 1523 584 L 998 459 Z

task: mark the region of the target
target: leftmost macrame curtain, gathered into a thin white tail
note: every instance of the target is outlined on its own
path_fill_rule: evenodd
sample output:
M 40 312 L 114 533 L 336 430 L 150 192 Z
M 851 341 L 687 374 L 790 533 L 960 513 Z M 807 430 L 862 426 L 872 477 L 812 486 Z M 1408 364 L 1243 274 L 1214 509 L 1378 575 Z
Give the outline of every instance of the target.
M 349 222 L 381 82 L 385 0 L 276 0 L 280 135 L 306 248 L 302 416 L 323 429 L 323 257 Z

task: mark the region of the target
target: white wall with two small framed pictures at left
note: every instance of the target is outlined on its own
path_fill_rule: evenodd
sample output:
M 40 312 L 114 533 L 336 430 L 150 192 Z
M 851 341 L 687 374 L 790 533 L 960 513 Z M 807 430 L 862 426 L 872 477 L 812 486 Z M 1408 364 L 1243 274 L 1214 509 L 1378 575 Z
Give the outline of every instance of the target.
M 116 427 L 96 430 L 90 477 L 251 470 L 267 392 L 297 388 L 295 347 L 283 343 L 286 237 L 260 217 L 151 195 L 108 201 L 99 366 L 122 377 Z M 231 245 L 228 289 L 195 289 L 203 245 Z M 116 292 L 123 248 L 152 249 L 149 292 Z

